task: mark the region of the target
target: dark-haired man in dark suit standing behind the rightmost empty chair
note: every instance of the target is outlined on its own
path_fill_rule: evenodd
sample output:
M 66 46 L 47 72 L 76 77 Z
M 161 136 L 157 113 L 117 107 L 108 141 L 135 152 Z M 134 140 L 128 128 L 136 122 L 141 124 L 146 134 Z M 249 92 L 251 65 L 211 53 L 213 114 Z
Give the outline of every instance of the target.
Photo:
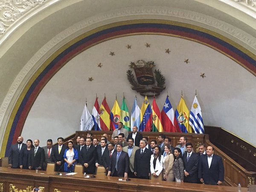
M 107 140 L 102 139 L 100 140 L 100 145 L 96 147 L 97 155 L 95 160 L 95 166 L 104 166 L 105 169 L 108 168 L 107 159 L 109 157 L 108 145 Z

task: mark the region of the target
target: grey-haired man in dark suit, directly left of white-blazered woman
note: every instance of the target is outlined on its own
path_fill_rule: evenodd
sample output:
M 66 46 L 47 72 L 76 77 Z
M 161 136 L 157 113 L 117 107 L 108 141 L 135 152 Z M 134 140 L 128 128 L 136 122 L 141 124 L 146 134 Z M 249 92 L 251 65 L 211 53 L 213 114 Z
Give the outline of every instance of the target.
M 151 150 L 146 148 L 146 142 L 140 140 L 140 149 L 135 152 L 134 175 L 140 179 L 149 179 Z

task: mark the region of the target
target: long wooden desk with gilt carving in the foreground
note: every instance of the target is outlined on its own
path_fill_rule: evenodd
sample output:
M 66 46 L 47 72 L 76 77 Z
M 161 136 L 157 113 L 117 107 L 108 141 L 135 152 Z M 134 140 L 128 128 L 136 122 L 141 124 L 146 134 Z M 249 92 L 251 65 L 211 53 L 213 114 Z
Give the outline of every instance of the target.
M 84 178 L 83 175 L 78 174 L 62 174 L 55 175 L 46 171 L 36 173 L 34 170 L 0 167 L 0 192 L 10 192 L 10 184 L 17 189 L 26 189 L 28 186 L 44 187 L 44 192 L 237 192 L 237 187 L 232 186 L 157 182 L 134 178 L 131 178 L 131 181 L 119 181 L 118 177 Z M 247 192 L 247 188 L 242 188 L 242 192 Z

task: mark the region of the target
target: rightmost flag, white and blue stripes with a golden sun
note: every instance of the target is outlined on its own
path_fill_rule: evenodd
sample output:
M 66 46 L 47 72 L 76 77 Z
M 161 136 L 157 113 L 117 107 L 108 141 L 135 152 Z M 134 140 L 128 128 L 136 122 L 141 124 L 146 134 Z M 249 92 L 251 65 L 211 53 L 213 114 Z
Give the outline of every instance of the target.
M 204 134 L 204 122 L 201 107 L 196 96 L 190 110 L 189 125 L 194 129 L 195 133 Z

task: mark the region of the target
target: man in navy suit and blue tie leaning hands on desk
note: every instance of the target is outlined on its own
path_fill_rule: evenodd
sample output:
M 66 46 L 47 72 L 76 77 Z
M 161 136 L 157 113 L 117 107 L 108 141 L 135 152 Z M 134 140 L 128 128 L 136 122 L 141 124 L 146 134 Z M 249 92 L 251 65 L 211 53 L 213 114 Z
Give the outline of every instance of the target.
M 116 144 L 114 151 L 109 161 L 108 176 L 128 177 L 129 156 L 128 153 L 122 151 L 122 143 Z

